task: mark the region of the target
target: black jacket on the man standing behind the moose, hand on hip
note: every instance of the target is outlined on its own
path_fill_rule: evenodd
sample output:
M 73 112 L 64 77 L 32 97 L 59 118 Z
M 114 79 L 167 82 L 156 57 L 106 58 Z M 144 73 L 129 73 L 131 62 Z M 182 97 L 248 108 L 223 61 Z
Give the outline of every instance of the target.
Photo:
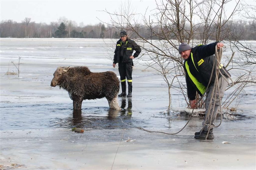
M 121 50 L 123 48 L 123 50 Z M 133 54 L 133 50 L 135 50 L 135 53 Z M 123 54 L 121 55 L 121 51 Z M 114 62 L 113 64 L 120 62 L 120 55 L 122 57 L 123 63 L 129 63 L 133 62 L 133 60 L 130 58 L 131 55 L 133 55 L 134 58 L 138 57 L 141 52 L 140 46 L 137 45 L 133 40 L 127 38 L 126 42 L 122 42 L 121 39 L 119 39 L 116 42 L 116 49 L 115 49 L 115 55 L 114 55 Z

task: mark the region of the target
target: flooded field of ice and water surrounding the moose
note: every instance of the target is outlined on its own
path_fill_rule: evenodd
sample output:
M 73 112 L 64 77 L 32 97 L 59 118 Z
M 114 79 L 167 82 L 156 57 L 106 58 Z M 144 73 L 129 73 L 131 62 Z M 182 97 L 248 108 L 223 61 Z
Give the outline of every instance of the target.
M 139 65 L 143 58 L 135 60 L 133 97 L 118 98 L 121 111 L 109 110 L 102 98 L 83 101 L 81 112 L 73 112 L 68 93 L 50 86 L 53 72 L 58 66 L 85 65 L 92 72 L 119 75 L 110 59 L 115 43 L 1 38 L 1 169 L 256 168 L 255 86 L 232 113 L 236 119 L 223 117 L 212 141 L 194 139 L 203 117 L 192 117 L 177 135 L 133 128 L 175 133 L 189 118 L 182 111 L 167 113 L 168 88 L 154 70 Z M 17 72 L 11 62 L 17 64 L 19 57 L 20 77 L 6 75 Z M 183 97 L 173 94 L 173 106 L 185 108 Z M 74 127 L 85 132 L 71 131 Z

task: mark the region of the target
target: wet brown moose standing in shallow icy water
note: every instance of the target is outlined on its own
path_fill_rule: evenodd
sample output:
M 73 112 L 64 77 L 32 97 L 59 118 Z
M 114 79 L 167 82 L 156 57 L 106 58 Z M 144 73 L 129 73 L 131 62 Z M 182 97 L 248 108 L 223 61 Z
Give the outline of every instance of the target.
M 114 72 L 93 73 L 85 66 L 78 66 L 58 67 L 53 75 L 51 86 L 68 91 L 74 110 L 81 110 L 83 100 L 103 97 L 111 109 L 121 109 L 117 101 L 119 79 Z

